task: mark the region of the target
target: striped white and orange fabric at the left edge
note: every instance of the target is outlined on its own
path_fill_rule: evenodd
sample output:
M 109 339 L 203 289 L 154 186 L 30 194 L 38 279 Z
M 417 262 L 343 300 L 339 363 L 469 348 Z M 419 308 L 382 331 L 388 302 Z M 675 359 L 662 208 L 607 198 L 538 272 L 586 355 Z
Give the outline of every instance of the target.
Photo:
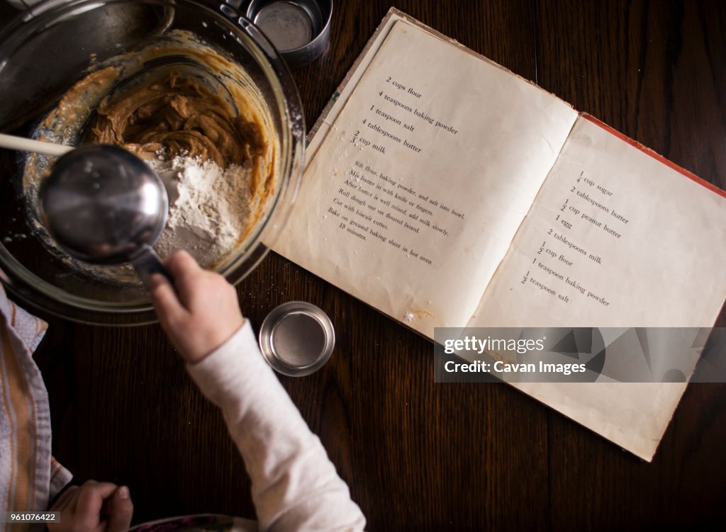
M 12 303 L 0 285 L 0 512 L 47 510 L 70 480 L 51 456 L 48 394 L 33 361 L 47 327 Z

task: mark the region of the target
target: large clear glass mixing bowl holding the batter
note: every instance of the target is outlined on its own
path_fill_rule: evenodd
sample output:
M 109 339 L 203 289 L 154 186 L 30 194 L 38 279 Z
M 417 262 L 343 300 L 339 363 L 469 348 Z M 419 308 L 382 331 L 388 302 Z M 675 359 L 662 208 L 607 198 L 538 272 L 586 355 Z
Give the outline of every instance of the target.
M 49 0 L 38 4 L 0 33 L 0 131 L 37 134 L 38 124 L 89 67 L 163 41 L 176 30 L 191 32 L 240 67 L 264 107 L 274 142 L 272 192 L 246 239 L 216 268 L 236 283 L 264 258 L 287 219 L 302 175 L 305 126 L 300 98 L 285 62 L 261 31 L 232 7 L 221 4 L 215 8 L 195 0 Z M 170 65 L 206 78 L 208 86 L 232 82 L 184 54 L 157 57 L 144 63 L 141 71 Z M 68 136 L 60 140 L 75 144 Z M 49 245 L 48 235 L 38 224 L 33 195 L 24 183 L 30 157 L 0 150 L 0 279 L 6 289 L 27 306 L 78 322 L 155 321 L 147 290 L 128 270 L 123 270 L 125 276 L 118 276 L 115 274 L 122 270 L 113 270 L 118 266 L 101 274 L 99 266 L 79 268 L 68 255 Z

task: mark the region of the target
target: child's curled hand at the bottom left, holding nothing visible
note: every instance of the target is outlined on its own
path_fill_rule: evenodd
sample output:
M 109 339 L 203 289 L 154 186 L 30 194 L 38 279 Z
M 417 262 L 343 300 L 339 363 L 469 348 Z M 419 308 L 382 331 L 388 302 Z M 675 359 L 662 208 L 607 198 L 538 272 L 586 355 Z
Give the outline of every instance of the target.
M 131 525 L 134 503 L 126 486 L 89 480 L 70 486 L 51 510 L 60 519 L 48 524 L 49 532 L 121 532 Z

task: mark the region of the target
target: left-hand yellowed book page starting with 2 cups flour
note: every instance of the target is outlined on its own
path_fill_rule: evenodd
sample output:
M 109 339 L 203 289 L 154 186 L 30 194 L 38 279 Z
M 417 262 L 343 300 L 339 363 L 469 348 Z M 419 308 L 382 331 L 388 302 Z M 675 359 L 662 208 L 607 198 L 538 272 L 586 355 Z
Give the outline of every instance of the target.
M 423 335 L 462 326 L 574 120 L 399 20 L 309 161 L 274 250 Z

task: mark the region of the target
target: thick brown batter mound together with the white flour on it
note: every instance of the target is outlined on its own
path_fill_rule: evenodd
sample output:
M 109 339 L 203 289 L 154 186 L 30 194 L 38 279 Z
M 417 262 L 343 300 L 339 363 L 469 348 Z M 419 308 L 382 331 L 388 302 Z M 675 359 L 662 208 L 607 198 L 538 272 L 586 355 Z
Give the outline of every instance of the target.
M 136 152 L 163 179 L 169 216 L 155 245 L 161 256 L 186 249 L 214 266 L 242 240 L 264 135 L 193 76 L 172 70 L 107 98 L 90 140 Z

